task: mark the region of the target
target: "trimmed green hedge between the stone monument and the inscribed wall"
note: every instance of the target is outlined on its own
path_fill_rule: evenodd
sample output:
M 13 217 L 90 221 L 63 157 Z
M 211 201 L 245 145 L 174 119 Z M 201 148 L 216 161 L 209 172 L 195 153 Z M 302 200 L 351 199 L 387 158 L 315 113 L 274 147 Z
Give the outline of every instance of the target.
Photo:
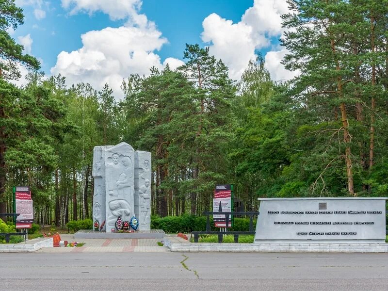
M 212 230 L 219 230 L 214 227 L 213 219 L 210 218 L 210 226 Z M 253 228 L 256 228 L 256 220 L 253 221 Z M 206 231 L 206 217 L 205 216 L 152 216 L 151 229 L 162 229 L 165 233 L 190 233 L 192 231 Z M 248 231 L 249 218 L 235 218 L 234 226 L 230 231 Z

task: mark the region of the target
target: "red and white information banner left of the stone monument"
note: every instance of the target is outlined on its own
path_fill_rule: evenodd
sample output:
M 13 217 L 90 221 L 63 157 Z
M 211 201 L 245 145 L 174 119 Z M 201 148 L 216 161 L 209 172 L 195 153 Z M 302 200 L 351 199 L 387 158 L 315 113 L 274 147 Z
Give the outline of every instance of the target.
M 16 187 L 16 228 L 31 228 L 33 222 L 32 199 L 29 187 Z

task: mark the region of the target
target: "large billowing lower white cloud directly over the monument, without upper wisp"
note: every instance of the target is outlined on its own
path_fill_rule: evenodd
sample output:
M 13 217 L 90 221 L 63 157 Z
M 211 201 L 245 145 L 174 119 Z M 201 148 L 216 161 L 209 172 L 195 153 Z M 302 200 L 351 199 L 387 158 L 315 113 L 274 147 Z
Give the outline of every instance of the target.
M 129 74 L 149 74 L 149 68 L 162 69 L 169 64 L 172 69 L 183 62 L 168 58 L 161 64 L 155 50 L 167 42 L 154 28 L 138 27 L 105 28 L 81 35 L 82 48 L 62 51 L 51 74 L 61 73 L 69 84 L 88 82 L 96 89 L 108 83 L 117 97 L 122 97 L 120 85 Z

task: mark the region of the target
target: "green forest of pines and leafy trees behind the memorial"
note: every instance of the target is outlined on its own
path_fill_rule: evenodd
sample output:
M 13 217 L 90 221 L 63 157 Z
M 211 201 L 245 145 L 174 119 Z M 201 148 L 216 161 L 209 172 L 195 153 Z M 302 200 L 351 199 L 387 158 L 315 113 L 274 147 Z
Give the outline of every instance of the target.
M 117 101 L 108 84 L 45 78 L 7 32 L 22 9 L 0 1 L 0 213 L 27 185 L 36 222 L 91 217 L 93 147 L 122 141 L 152 153 L 161 216 L 209 210 L 215 184 L 235 184 L 246 210 L 258 197 L 387 196 L 388 1 L 288 2 L 280 41 L 293 80 L 272 81 L 258 57 L 234 81 L 187 45 L 185 65 L 130 75 Z M 31 73 L 18 88 L 20 65 Z

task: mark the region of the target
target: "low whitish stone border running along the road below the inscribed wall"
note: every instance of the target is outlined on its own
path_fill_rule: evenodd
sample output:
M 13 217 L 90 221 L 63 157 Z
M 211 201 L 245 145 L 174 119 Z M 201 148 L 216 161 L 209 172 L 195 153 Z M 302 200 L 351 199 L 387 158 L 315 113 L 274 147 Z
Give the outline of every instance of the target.
M 388 253 L 387 243 L 181 243 L 164 238 L 172 252 Z

